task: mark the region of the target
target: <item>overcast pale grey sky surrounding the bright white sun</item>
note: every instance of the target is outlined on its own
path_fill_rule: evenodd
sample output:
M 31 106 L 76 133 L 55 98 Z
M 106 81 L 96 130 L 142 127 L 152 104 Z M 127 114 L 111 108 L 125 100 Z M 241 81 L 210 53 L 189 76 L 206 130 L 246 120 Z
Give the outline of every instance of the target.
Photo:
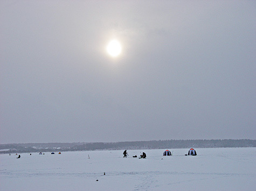
M 0 1 L 0 143 L 256 139 L 255 10 Z

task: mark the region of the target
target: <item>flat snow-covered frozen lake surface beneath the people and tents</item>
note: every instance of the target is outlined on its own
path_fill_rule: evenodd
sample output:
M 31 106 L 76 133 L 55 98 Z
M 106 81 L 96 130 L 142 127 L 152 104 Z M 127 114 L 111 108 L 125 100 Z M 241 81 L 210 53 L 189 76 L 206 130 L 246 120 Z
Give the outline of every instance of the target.
M 189 149 L 0 155 L 0 190 L 256 190 L 256 148 Z

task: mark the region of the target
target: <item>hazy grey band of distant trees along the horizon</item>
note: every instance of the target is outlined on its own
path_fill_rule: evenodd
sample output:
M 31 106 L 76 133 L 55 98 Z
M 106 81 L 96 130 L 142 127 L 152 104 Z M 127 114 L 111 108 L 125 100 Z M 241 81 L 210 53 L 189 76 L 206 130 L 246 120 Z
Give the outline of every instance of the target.
M 236 148 L 256 147 L 251 139 L 197 139 L 197 140 L 159 140 L 113 143 L 20 143 L 0 144 L 0 153 L 13 152 L 52 152 L 88 150 L 136 150 L 136 149 L 181 149 L 181 148 Z

